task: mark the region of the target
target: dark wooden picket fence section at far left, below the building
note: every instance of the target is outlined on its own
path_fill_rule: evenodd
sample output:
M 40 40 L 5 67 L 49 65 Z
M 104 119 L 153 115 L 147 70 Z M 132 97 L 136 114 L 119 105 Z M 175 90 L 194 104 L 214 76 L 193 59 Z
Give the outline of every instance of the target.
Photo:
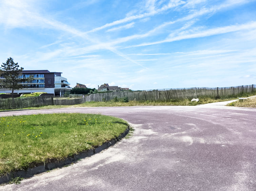
M 53 104 L 53 96 L 0 99 L 0 109 L 40 107 Z

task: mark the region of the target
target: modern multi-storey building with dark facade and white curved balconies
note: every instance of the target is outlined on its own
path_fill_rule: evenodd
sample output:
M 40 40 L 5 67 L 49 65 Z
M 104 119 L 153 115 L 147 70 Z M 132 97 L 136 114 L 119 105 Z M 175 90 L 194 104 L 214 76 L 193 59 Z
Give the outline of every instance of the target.
M 65 93 L 70 93 L 72 89 L 67 79 L 61 76 L 61 72 L 49 72 L 48 70 L 23 70 L 20 78 L 33 76 L 32 82 L 23 82 L 24 88 L 14 90 L 14 93 L 34 93 L 46 92 L 54 96 L 63 97 Z M 2 78 L 2 77 L 1 77 Z M 0 89 L 0 93 L 11 93 L 9 89 Z

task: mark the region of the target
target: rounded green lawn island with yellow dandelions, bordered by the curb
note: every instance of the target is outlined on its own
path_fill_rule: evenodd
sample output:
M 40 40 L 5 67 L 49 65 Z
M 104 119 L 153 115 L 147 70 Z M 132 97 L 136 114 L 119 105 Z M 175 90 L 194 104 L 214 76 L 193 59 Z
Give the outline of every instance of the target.
M 99 114 L 0 118 L 0 174 L 73 156 L 125 131 L 126 121 Z

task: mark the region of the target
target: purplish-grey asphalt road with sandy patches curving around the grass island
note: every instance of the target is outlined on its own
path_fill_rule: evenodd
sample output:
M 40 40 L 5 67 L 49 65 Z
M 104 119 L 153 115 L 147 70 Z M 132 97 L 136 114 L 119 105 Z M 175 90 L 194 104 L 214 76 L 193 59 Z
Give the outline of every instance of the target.
M 222 104 L 223 105 L 223 104 Z M 81 161 L 0 190 L 256 190 L 256 109 L 209 104 L 64 108 L 127 120 L 128 139 Z

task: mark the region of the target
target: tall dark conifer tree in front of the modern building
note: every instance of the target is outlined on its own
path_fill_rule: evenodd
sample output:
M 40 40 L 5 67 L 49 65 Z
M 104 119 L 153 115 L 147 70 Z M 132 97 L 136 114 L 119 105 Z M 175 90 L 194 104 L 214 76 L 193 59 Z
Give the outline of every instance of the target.
M 18 62 L 15 63 L 13 58 L 9 57 L 5 63 L 3 63 L 0 67 L 0 86 L 1 88 L 6 88 L 12 90 L 12 98 L 13 92 L 15 89 L 23 88 L 22 82 L 31 82 L 34 77 L 30 76 L 29 78 L 21 78 L 23 67 L 18 65 Z M 19 69 L 20 67 L 20 69 Z

